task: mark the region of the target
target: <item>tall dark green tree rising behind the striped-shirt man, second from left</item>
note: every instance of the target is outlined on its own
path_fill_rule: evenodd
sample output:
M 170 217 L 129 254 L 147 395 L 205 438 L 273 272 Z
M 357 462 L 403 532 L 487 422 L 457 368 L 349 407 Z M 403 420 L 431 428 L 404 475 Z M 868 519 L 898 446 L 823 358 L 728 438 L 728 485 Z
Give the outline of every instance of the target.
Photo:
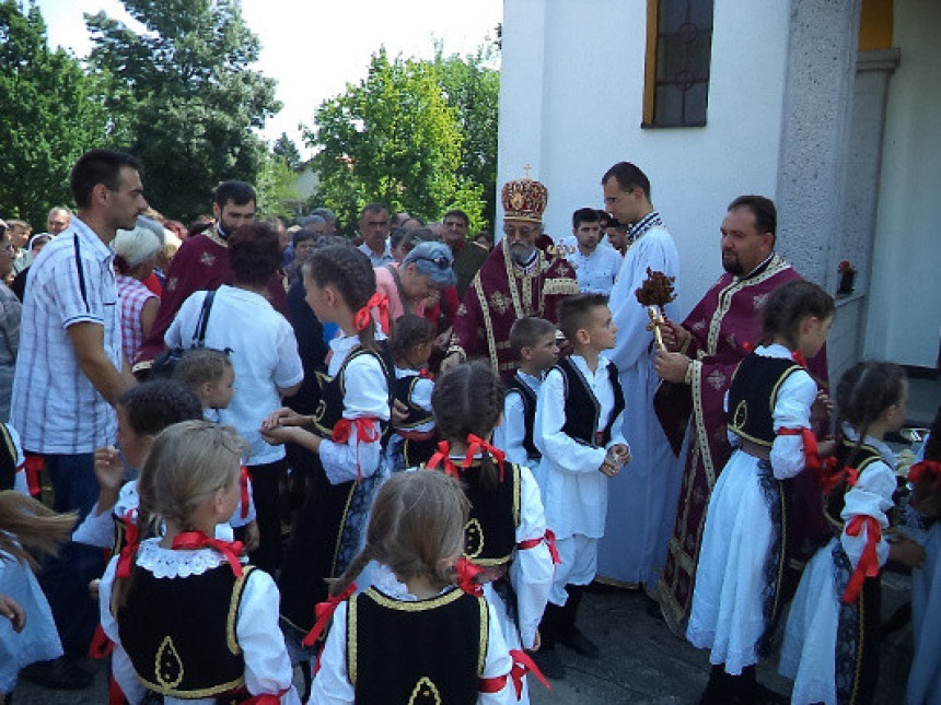
M 219 181 L 257 180 L 267 150 L 253 128 L 280 109 L 275 81 L 251 68 L 259 44 L 237 0 L 124 4 L 146 32 L 86 15 L 91 64 L 112 77 L 108 108 L 130 116 L 148 199 L 189 220 Z

